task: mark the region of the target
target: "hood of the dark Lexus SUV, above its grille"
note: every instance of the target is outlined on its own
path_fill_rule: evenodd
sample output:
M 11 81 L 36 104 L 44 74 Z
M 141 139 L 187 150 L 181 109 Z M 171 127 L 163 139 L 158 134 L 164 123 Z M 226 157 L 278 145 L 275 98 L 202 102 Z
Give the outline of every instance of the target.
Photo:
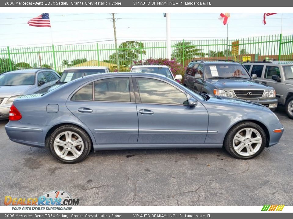
M 208 79 L 207 81 L 219 89 L 273 89 L 266 84 L 250 79 Z

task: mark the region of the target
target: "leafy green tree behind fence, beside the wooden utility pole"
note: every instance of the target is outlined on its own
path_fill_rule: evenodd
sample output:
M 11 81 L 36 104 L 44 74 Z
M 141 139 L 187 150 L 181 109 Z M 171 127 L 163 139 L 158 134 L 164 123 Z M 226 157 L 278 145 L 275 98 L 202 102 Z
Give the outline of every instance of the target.
M 133 61 L 139 60 L 140 54 L 145 55 L 143 43 L 137 41 L 126 41 L 119 45 L 119 50 L 109 56 L 108 62 L 117 64 L 117 54 L 119 65 L 130 65 Z

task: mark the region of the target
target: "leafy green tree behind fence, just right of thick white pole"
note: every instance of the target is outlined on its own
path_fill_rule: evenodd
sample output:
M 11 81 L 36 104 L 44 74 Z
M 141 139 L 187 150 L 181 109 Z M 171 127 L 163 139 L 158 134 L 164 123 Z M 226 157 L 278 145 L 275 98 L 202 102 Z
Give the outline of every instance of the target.
M 193 45 L 192 42 L 184 42 L 184 49 L 183 49 L 183 42 L 176 43 L 174 45 L 175 49 L 173 50 L 171 57 L 172 59 L 176 59 L 178 62 L 183 61 L 183 52 L 185 59 L 192 59 L 194 57 L 204 57 L 204 53 L 200 52 L 201 49 L 197 49 L 197 46 Z

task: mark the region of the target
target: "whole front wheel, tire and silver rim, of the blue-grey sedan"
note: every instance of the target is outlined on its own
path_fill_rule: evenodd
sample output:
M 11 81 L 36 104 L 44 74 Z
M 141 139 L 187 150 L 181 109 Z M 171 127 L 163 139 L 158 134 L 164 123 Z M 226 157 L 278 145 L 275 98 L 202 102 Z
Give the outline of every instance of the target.
M 250 159 L 259 155 L 266 145 L 266 133 L 253 122 L 233 126 L 224 140 L 225 149 L 235 158 Z

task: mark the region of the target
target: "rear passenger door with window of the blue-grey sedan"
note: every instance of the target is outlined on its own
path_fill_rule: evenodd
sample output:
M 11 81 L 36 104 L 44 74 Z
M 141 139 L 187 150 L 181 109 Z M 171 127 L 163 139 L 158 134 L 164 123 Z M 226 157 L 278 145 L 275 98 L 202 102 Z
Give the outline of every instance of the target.
M 89 127 L 96 144 L 137 143 L 138 117 L 130 78 L 100 78 L 67 100 L 67 108 Z

